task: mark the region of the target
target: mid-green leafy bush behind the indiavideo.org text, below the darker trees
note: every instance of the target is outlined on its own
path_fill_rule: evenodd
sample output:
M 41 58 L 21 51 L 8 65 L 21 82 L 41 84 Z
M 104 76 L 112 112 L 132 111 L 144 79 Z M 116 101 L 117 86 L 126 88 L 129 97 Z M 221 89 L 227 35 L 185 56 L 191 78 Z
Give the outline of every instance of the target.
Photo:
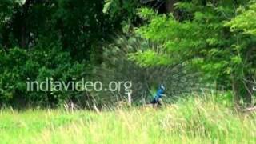
M 0 104 L 9 106 L 58 106 L 78 94 L 68 91 L 30 92 L 26 90 L 26 82 L 42 82 L 46 78 L 67 82 L 72 78 L 82 78 L 90 69 L 86 62 L 72 61 L 70 53 L 58 46 L 33 50 L 16 47 L 7 53 L 0 50 L 0 59 Z

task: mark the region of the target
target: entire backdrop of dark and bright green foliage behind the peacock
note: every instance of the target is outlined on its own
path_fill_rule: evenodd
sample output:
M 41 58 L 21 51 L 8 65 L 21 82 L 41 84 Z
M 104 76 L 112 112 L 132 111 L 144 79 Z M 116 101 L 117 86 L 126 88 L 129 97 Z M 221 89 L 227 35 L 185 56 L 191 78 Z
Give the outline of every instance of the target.
M 27 78 L 65 82 L 94 78 L 93 71 L 100 67 L 112 70 L 109 78 L 124 80 L 144 78 L 151 70 L 152 83 L 159 83 L 154 68 L 175 66 L 189 70 L 188 74 L 202 73 L 202 79 L 216 84 L 214 90 L 232 90 L 235 102 L 253 102 L 255 14 L 254 0 L 2 0 L 0 104 L 57 106 L 74 99 L 88 103 L 95 96 L 28 93 Z M 116 33 L 139 42 L 118 46 L 120 38 L 113 40 Z M 127 51 L 127 47 L 137 49 Z M 130 69 L 137 73 L 132 76 Z M 103 93 L 97 100 L 104 98 Z

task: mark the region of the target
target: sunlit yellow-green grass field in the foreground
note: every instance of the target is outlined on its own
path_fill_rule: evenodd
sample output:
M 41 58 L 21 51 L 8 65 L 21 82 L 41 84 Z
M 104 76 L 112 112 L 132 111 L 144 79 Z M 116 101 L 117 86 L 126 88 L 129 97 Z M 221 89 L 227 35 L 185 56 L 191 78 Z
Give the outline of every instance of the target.
M 2 110 L 0 143 L 255 143 L 255 118 L 206 98 L 100 113 Z

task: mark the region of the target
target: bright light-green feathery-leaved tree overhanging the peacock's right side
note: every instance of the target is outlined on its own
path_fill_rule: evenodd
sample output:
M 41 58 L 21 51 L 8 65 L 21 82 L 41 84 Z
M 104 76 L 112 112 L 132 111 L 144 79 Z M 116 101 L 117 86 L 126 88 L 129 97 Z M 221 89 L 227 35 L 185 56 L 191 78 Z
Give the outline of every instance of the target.
M 251 102 L 249 89 L 252 86 L 244 79 L 255 74 L 255 54 L 252 53 L 255 21 L 253 18 L 249 22 L 243 19 L 254 14 L 254 6 L 250 4 L 227 0 L 178 2 L 175 6 L 181 12 L 179 18 L 142 9 L 140 16 L 149 23 L 138 28 L 137 33 L 150 41 L 162 43 L 162 50 L 130 54 L 130 59 L 142 66 L 172 66 L 177 63 L 194 66 L 204 72 L 208 80 L 232 89 L 236 102 L 240 98 Z M 237 15 L 241 10 L 239 6 L 248 5 L 249 10 Z M 238 31 L 233 33 L 230 27 L 236 27 Z

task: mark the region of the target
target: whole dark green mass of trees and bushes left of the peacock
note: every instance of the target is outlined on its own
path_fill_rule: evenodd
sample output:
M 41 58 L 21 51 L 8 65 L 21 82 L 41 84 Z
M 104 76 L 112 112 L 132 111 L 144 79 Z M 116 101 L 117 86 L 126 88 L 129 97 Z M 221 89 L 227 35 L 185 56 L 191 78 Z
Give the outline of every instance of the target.
M 103 14 L 103 5 L 101 0 L 1 1 L 0 103 L 55 106 L 80 97 L 30 94 L 26 80 L 50 77 L 67 82 L 85 77 L 92 65 L 101 63 L 102 45 L 121 26 L 118 18 Z

